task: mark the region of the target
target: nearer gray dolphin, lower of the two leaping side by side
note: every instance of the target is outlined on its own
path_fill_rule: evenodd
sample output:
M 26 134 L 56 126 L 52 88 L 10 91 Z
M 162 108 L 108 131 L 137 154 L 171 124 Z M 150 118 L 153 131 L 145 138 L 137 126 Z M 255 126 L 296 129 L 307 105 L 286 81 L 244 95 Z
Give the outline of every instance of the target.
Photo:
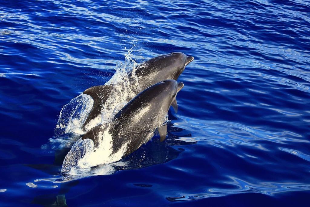
M 178 84 L 175 80 L 166 80 L 148 87 L 128 102 L 109 126 L 98 125 L 91 128 L 82 136 L 82 140 L 93 140 L 96 149 L 104 139 L 103 132 L 108 129 L 112 136 L 111 154 L 126 145 L 122 157 L 150 140 L 157 128 L 160 140 L 163 141 L 167 133 L 167 126 L 163 125 L 165 116 L 183 86 L 183 83 Z

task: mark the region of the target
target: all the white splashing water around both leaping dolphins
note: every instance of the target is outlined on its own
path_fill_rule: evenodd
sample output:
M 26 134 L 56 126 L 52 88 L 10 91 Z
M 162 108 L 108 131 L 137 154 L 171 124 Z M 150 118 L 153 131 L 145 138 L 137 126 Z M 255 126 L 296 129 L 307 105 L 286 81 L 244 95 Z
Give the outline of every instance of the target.
M 113 89 L 103 103 L 101 115 L 86 125 L 86 131 L 100 123 L 107 126 L 114 115 L 137 94 L 137 91 L 141 91 L 138 77 L 134 73 L 138 64 L 132 59 L 131 52 L 131 50 L 128 51 L 125 55 L 125 64 L 117 65 L 115 74 L 105 84 L 113 85 Z M 91 112 L 93 103 L 93 99 L 86 94 L 72 99 L 62 108 L 55 132 L 58 135 L 69 132 L 84 134 L 82 125 Z M 91 140 L 78 140 L 65 157 L 61 172 L 70 176 L 87 174 L 93 166 L 114 163 L 122 159 L 128 143 L 123 145 L 117 153 L 112 154 L 112 136 L 108 130 L 109 127 L 99 135 L 100 145 L 96 150 L 93 150 L 94 145 Z

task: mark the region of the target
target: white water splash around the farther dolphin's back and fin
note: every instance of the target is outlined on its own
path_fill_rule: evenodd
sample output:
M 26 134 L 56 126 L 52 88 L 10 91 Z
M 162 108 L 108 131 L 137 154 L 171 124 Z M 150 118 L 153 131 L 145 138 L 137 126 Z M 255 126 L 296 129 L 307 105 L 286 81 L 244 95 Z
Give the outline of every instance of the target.
M 115 74 L 105 84 L 113 85 L 113 89 L 103 103 L 101 115 L 85 126 L 86 131 L 100 123 L 110 122 L 114 115 L 137 94 L 137 91 L 141 91 L 138 77 L 135 76 L 138 63 L 132 59 L 131 52 L 132 49 L 125 55 L 125 64 L 117 65 Z M 82 129 L 82 125 L 91 112 L 93 104 L 94 100 L 89 95 L 81 94 L 64 105 L 55 127 L 55 135 L 60 136 L 69 132 L 83 135 L 86 131 Z

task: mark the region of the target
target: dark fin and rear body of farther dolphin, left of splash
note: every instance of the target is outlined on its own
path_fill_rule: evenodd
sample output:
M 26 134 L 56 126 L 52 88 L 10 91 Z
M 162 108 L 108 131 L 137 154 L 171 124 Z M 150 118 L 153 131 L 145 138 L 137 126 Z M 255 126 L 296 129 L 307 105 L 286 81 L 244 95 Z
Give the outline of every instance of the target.
M 112 88 L 113 85 L 99 85 L 88 88 L 83 92 L 83 94 L 87 94 L 94 99 L 93 108 L 91 109 L 91 113 L 88 115 L 82 126 L 83 129 L 92 119 L 98 117 L 101 114 L 102 105 L 108 99 Z

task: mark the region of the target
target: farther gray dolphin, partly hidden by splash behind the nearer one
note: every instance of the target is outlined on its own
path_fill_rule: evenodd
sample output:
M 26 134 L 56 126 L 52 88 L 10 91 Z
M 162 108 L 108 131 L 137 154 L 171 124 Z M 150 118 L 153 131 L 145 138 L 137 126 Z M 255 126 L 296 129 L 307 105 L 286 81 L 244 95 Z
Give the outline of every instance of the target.
M 134 94 L 138 94 L 141 90 L 144 90 L 159 81 L 168 79 L 177 80 L 185 67 L 192 62 L 193 59 L 193 56 L 186 56 L 184 53 L 169 53 L 151 58 L 148 61 L 141 63 L 128 75 L 130 79 L 129 81 L 134 82 L 135 80 L 138 80 L 139 83 L 139 89 L 133 89 Z M 83 92 L 83 94 L 90 95 L 94 100 L 91 112 L 82 125 L 84 130 L 91 120 L 101 114 L 104 103 L 111 96 L 111 91 L 115 87 L 120 86 L 99 85 L 88 88 Z

